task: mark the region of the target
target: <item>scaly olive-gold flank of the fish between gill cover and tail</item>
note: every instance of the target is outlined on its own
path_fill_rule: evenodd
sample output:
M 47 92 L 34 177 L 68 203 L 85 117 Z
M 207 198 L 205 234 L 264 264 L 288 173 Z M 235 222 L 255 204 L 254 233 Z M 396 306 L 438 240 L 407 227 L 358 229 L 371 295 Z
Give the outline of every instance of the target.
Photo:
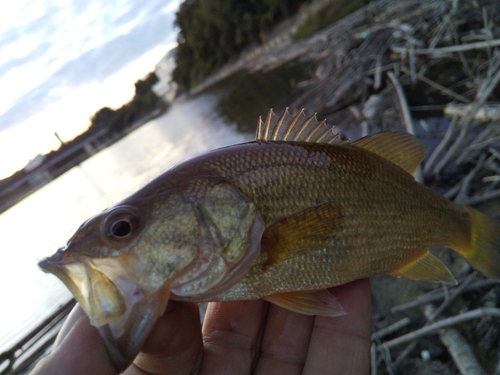
M 342 208 L 343 228 L 335 233 L 330 254 L 321 254 L 323 249 L 311 246 L 303 249 L 306 255 L 302 259 L 285 260 L 267 268 L 262 254 L 247 277 L 211 300 L 253 299 L 276 292 L 320 289 L 387 272 L 430 245 L 447 244 L 449 241 L 437 234 L 456 233 L 457 227 L 463 225 L 449 217 L 465 218 L 465 210 L 416 184 L 399 167 L 380 163 L 377 156 L 346 146 L 282 146 L 279 142 L 239 146 L 228 158 L 219 153 L 211 155 L 204 160 L 208 167 L 201 168 L 214 168 L 215 173 L 241 190 L 255 203 L 268 227 L 297 211 L 334 202 Z M 238 165 L 232 162 L 235 155 L 242 160 Z M 246 165 L 246 158 L 255 163 L 250 171 L 240 167 Z M 301 178 L 305 175 L 307 178 Z M 387 180 L 392 183 L 387 184 Z M 413 192 L 416 188 L 421 191 Z M 420 199 L 409 200 L 409 195 Z M 436 208 L 431 210 L 433 206 Z M 366 237 L 366 228 L 370 228 L 371 238 Z M 398 238 L 401 232 L 405 233 L 405 241 Z M 397 246 L 391 246 L 394 243 Z M 343 255 L 344 249 L 350 249 L 351 254 Z M 380 255 L 375 249 L 380 250 Z M 364 257 L 370 250 L 372 258 Z M 287 277 L 298 262 L 306 262 L 310 274 L 298 279 Z M 357 271 L 346 272 L 345 264 L 355 265 Z

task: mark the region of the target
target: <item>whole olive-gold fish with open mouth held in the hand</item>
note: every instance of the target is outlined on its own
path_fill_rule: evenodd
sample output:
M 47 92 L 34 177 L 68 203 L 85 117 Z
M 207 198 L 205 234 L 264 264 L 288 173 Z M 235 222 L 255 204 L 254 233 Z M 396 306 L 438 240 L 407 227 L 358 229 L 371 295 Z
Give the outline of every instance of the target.
M 500 224 L 415 181 L 407 133 L 350 142 L 285 110 L 255 141 L 185 161 L 85 221 L 39 262 L 75 296 L 117 369 L 170 299 L 264 299 L 309 315 L 345 310 L 327 288 L 387 274 L 456 283 L 445 246 L 500 278 Z

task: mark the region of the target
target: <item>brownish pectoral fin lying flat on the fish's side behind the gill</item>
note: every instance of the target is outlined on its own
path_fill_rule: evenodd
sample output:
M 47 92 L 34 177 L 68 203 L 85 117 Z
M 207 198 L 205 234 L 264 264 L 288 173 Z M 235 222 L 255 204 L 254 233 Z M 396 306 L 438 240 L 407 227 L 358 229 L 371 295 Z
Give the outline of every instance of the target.
M 341 222 L 340 207 L 329 202 L 278 221 L 262 235 L 261 250 L 268 256 L 266 266 L 328 246 Z

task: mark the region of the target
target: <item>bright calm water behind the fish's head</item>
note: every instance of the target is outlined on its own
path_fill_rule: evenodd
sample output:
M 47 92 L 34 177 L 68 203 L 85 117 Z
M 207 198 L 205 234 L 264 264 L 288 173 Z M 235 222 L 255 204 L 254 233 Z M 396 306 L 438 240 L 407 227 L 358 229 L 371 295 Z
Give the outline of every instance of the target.
M 36 264 L 85 219 L 187 158 L 252 139 L 218 115 L 215 105 L 206 95 L 177 103 L 0 215 L 0 352 L 70 298 Z

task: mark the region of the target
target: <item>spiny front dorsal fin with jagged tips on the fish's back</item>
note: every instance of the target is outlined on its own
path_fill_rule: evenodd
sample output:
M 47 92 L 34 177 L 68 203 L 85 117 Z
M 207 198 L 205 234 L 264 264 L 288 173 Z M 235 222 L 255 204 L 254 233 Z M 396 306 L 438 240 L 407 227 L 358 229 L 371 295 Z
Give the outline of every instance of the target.
M 299 121 L 300 117 L 304 115 L 302 109 L 292 119 L 285 121 L 285 117 L 288 115 L 288 108 L 286 108 L 278 120 L 272 122 L 273 115 L 274 112 L 270 109 L 266 122 L 263 122 L 262 118 L 259 117 L 255 136 L 257 142 L 287 141 L 342 144 L 340 134 L 335 134 L 333 127 L 326 125 L 326 120 L 318 122 L 316 114 L 307 117 L 304 121 Z

